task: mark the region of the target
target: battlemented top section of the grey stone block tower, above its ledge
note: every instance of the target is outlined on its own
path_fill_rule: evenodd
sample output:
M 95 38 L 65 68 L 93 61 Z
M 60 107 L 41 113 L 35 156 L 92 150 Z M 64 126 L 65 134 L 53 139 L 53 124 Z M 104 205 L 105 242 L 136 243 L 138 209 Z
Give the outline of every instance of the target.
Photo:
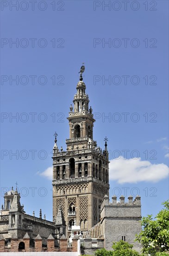
M 117 196 L 113 195 L 112 202 L 109 202 L 109 197 L 104 196 L 100 213 L 101 217 L 111 218 L 141 218 L 141 197 L 139 195 L 133 201 L 133 197 L 128 197 L 128 202 L 125 202 L 125 196 L 119 197 L 120 202 L 117 202 Z

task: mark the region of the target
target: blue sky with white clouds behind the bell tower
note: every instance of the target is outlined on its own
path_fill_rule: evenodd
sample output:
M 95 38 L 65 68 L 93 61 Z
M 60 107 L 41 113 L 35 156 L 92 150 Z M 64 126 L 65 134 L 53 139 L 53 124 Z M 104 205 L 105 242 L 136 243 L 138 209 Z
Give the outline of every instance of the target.
M 82 62 L 110 200 L 139 193 L 142 216 L 155 216 L 168 199 L 169 2 L 105 4 L 1 1 L 1 203 L 17 181 L 25 211 L 52 220 L 53 134 L 66 150 Z

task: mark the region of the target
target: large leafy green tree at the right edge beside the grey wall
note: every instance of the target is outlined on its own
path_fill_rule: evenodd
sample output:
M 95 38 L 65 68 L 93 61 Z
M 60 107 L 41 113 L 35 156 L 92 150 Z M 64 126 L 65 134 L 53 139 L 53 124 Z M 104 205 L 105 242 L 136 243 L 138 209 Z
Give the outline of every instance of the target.
M 142 244 L 143 252 L 151 256 L 163 256 L 166 253 L 162 252 L 169 251 L 169 200 L 162 204 L 164 209 L 157 214 L 156 220 L 152 215 L 143 217 L 143 230 L 136 238 Z

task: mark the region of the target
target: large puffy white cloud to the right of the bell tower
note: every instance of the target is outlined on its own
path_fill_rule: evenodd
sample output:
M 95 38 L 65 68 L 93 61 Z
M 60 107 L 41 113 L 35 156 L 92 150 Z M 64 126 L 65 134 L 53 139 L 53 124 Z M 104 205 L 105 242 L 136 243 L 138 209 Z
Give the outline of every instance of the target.
M 109 179 L 118 183 L 158 182 L 169 175 L 169 167 L 163 163 L 152 164 L 141 158 L 113 159 L 109 164 Z

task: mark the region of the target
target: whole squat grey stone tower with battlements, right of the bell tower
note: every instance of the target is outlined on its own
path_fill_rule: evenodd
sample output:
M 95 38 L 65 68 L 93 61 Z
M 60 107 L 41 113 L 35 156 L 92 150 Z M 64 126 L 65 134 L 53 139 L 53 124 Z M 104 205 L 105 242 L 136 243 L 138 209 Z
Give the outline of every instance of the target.
M 104 236 L 104 247 L 112 249 L 113 242 L 124 240 L 134 244 L 134 249 L 140 251 L 141 246 L 134 242 L 136 234 L 141 232 L 141 200 L 140 196 L 125 197 L 120 196 L 120 202 L 117 197 L 112 197 L 109 202 L 108 196 L 105 196 L 101 204 L 101 227 Z

